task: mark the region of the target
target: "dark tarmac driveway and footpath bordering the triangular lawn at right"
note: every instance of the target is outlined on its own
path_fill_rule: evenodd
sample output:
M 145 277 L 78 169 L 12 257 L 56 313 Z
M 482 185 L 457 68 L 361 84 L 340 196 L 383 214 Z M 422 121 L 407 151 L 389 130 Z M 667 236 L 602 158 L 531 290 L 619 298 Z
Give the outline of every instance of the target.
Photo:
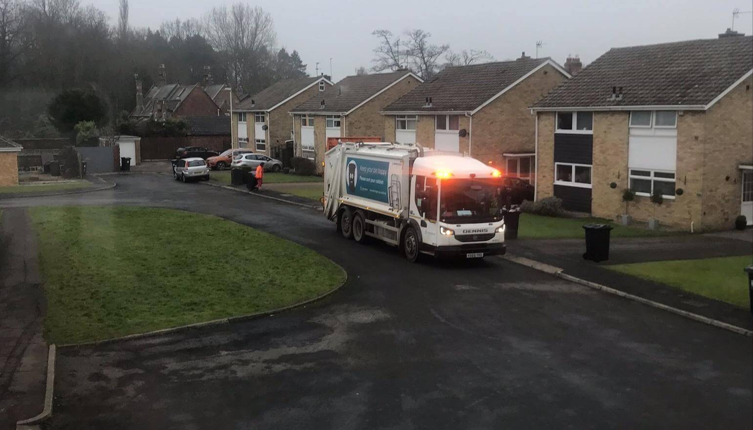
M 753 261 L 753 230 L 751 229 L 741 232 L 697 235 L 612 238 L 609 260 L 601 263 L 584 260 L 584 239 L 520 239 L 514 244 L 514 251 L 511 251 L 514 255 L 560 267 L 569 275 L 753 330 L 753 318 L 748 309 L 681 291 L 659 282 L 617 273 L 607 268 L 611 264 L 739 255 L 751 256 L 751 261 Z M 740 267 L 740 273 L 742 269 L 743 267 Z M 741 282 L 740 288 L 746 288 L 744 282 Z

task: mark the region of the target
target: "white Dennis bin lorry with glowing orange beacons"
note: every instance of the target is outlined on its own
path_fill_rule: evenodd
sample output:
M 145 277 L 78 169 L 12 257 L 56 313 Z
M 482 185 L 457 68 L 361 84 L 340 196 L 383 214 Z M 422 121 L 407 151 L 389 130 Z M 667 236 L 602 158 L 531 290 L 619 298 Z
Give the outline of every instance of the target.
M 344 142 L 325 154 L 325 216 L 346 239 L 420 254 L 505 254 L 501 172 L 419 145 Z

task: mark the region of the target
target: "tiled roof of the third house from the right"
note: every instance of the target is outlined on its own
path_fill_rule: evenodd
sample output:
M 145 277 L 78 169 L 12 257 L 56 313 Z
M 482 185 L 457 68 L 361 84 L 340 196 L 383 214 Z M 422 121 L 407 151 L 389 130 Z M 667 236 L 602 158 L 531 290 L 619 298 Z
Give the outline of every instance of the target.
M 361 104 L 370 96 L 379 93 L 389 84 L 410 74 L 405 70 L 390 73 L 375 73 L 373 75 L 346 76 L 341 81 L 317 93 L 312 99 L 303 102 L 293 112 L 347 112 Z M 322 108 L 322 100 L 325 108 Z

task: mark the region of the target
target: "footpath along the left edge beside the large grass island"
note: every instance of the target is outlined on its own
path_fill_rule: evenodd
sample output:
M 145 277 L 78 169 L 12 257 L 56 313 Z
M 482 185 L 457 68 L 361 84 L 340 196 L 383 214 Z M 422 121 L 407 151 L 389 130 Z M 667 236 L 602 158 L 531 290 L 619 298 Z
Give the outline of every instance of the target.
M 42 411 L 47 343 L 34 234 L 23 209 L 0 215 L 0 428 Z

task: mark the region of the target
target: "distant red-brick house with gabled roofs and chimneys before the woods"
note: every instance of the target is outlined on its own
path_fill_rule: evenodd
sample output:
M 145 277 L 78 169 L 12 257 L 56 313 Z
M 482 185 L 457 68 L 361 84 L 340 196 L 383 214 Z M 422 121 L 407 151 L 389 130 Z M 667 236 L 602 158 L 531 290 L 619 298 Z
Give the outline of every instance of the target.
M 136 107 L 130 118 L 137 121 L 166 120 L 170 117 L 207 117 L 221 114 L 212 97 L 199 85 L 167 84 L 165 65 L 157 69 L 157 84 L 146 94 L 136 78 Z

